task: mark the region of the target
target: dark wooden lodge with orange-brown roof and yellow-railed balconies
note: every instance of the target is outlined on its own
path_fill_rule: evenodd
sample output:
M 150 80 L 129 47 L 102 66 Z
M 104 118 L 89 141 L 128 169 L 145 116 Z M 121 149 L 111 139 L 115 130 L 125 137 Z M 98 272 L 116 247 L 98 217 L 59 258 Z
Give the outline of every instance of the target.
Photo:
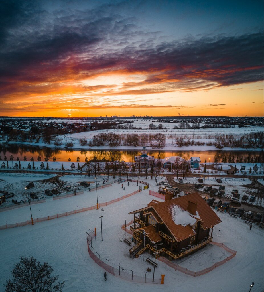
M 169 256 L 169 260 L 182 258 L 212 241 L 213 226 L 220 218 L 198 193 L 164 202 L 152 200 L 134 214 L 134 225 L 130 226 L 136 242 L 129 251 L 138 257 L 145 250 Z M 211 232 L 210 232 L 211 229 Z

